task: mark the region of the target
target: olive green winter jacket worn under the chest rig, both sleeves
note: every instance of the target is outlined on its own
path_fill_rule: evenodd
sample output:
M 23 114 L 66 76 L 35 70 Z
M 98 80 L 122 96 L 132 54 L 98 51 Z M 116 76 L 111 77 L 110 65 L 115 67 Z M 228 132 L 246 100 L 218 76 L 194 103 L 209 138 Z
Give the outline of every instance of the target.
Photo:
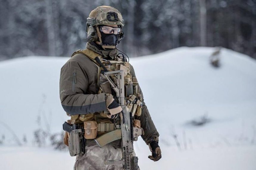
M 107 57 L 106 51 L 90 49 L 103 57 Z M 116 57 L 116 54 L 109 54 L 109 58 Z M 131 65 L 131 75 L 135 77 L 134 69 Z M 60 101 L 63 109 L 70 115 L 89 114 L 106 110 L 105 93 L 98 92 L 98 68 L 85 55 L 75 54 L 61 68 L 60 72 Z M 138 93 L 142 94 L 138 85 Z M 141 116 L 136 117 L 141 121 L 144 130 L 143 140 L 148 144 L 148 140 L 154 138 L 158 141 L 159 133 L 151 119 L 147 106 L 143 101 Z

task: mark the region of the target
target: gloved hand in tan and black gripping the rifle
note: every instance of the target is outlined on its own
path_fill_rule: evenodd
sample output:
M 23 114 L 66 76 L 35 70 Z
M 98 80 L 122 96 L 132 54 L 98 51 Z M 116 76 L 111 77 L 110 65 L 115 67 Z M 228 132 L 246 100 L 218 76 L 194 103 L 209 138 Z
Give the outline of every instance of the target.
M 109 114 L 107 114 L 108 118 L 117 118 L 119 116 L 118 113 L 120 113 L 123 109 L 121 106 L 114 100 L 112 94 L 106 94 L 106 106 L 107 110 L 109 111 Z

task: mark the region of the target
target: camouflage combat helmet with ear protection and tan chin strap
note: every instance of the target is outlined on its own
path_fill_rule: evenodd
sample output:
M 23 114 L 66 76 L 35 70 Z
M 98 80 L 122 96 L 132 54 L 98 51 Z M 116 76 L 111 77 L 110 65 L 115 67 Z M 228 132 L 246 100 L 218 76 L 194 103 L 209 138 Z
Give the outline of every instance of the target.
M 124 20 L 121 13 L 113 7 L 100 6 L 90 12 L 86 22 L 86 40 L 99 44 L 103 49 L 115 49 L 116 44 L 124 38 L 124 32 L 120 31 L 115 45 L 105 45 L 102 43 L 100 25 L 118 25 L 119 28 L 122 28 Z

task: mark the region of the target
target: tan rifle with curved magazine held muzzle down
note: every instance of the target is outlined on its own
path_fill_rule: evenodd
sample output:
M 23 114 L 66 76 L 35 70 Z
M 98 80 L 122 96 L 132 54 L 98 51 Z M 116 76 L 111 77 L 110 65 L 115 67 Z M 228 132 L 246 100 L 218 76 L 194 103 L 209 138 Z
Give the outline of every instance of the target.
M 104 76 L 116 93 L 115 97 L 118 99 L 118 102 L 123 109 L 121 112 L 122 114 L 120 115 L 121 126 L 114 131 L 98 137 L 94 141 L 99 147 L 102 147 L 114 140 L 121 139 L 122 160 L 106 160 L 104 164 L 123 164 L 123 169 L 125 170 L 139 169 L 138 157 L 133 156 L 133 141 L 138 140 L 138 136 L 142 134 L 142 128 L 133 127 L 134 117 L 126 106 L 126 98 L 124 95 L 124 70 L 104 72 Z

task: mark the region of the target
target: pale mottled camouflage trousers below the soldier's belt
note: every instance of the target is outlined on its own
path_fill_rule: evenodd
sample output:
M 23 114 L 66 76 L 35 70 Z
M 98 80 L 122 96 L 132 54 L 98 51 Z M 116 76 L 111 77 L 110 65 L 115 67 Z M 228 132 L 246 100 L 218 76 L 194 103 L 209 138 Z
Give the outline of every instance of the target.
M 86 146 L 85 154 L 77 156 L 74 170 L 122 170 L 122 164 L 104 165 L 104 161 L 122 159 L 121 148 L 114 148 L 107 144 L 100 148 L 97 145 Z

